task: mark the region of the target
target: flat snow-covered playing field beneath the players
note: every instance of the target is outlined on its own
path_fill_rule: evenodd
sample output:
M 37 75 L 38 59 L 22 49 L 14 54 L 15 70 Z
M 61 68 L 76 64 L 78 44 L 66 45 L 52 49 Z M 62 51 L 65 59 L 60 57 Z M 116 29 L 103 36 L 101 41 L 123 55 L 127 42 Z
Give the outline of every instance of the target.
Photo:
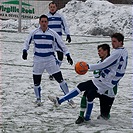
M 35 107 L 32 81 L 32 45 L 28 60 L 22 60 L 22 45 L 27 33 L 0 33 L 0 128 L 3 133 L 132 133 L 132 40 L 125 40 L 129 52 L 128 67 L 120 81 L 118 94 L 108 121 L 97 120 L 99 101 L 94 100 L 91 122 L 76 125 L 75 120 L 80 110 L 80 97 L 74 98 L 76 108 L 67 102 L 56 108 L 48 100 L 48 95 L 62 96 L 56 81 L 50 81 L 44 72 L 42 78 L 43 106 Z M 65 39 L 65 38 L 64 38 Z M 99 60 L 97 45 L 108 43 L 109 37 L 72 36 L 72 43 L 67 44 L 74 63 L 80 60 L 95 63 Z M 61 67 L 64 79 L 73 89 L 78 83 L 92 78 L 92 72 L 79 76 L 70 66 L 66 58 Z

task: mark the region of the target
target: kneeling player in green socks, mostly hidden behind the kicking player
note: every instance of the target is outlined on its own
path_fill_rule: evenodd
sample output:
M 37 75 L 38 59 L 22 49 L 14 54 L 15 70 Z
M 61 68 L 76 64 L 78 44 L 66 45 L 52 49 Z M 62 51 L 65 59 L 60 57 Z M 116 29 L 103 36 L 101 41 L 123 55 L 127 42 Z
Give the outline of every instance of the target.
M 108 56 L 110 56 L 110 47 L 108 44 L 98 45 L 97 50 L 98 50 L 98 55 L 101 58 L 101 60 L 98 61 L 97 63 L 102 62 L 104 59 L 106 59 Z M 93 72 L 94 78 L 99 78 L 100 74 L 101 74 L 100 70 L 95 70 Z M 114 91 L 114 93 L 112 93 L 111 91 L 106 91 L 104 94 L 102 94 L 102 95 L 98 94 L 96 96 L 100 100 L 100 113 L 101 114 L 98 116 L 98 118 L 102 117 L 105 120 L 109 119 L 110 109 L 112 107 L 114 97 L 117 92 L 117 85 L 114 87 L 113 91 Z M 79 115 L 78 119 L 75 121 L 76 124 L 81 124 L 84 122 L 84 114 L 85 114 L 86 108 L 87 108 L 86 95 L 87 94 L 85 92 L 81 98 L 80 115 Z

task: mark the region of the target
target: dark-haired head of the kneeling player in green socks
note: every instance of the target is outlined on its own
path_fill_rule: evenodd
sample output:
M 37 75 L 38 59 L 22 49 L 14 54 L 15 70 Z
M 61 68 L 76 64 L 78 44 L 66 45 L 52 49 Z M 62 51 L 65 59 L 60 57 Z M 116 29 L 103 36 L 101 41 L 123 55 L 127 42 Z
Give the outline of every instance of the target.
M 98 45 L 97 50 L 98 50 L 98 55 L 102 60 L 110 56 L 110 46 L 108 44 Z

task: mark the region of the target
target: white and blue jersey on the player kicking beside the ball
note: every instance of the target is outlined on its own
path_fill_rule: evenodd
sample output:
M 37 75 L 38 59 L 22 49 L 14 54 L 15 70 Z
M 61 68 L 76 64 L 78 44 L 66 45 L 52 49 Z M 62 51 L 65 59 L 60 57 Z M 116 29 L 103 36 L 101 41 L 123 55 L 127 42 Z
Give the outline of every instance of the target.
M 124 76 L 128 60 L 128 52 L 124 47 L 114 49 L 109 57 L 98 64 L 89 64 L 90 70 L 101 70 L 100 77 L 92 81 L 100 94 L 112 89 Z

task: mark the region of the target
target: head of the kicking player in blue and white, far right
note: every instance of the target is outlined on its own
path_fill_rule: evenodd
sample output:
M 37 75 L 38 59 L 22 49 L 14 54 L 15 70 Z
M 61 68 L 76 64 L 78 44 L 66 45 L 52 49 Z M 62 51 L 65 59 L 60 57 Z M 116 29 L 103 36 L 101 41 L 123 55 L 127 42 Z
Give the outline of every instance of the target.
M 124 45 L 124 36 L 121 33 L 114 33 L 111 36 L 112 47 L 114 49 L 122 47 Z

